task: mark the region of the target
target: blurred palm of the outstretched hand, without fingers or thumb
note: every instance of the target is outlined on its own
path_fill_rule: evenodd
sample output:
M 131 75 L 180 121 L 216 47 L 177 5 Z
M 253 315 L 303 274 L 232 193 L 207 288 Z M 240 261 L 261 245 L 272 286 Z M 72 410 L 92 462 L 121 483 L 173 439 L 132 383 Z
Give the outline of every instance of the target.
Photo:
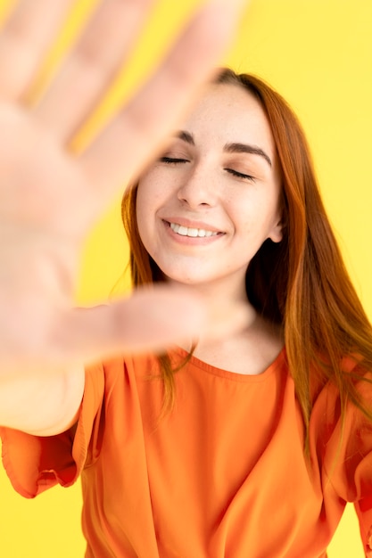
M 91 216 L 79 203 L 86 186 L 79 166 L 47 130 L 9 103 L 0 108 L 0 127 L 1 304 L 12 316 L 0 335 L 2 359 L 12 362 L 16 351 L 24 365 L 53 350 L 47 338 L 57 308 L 72 300 Z

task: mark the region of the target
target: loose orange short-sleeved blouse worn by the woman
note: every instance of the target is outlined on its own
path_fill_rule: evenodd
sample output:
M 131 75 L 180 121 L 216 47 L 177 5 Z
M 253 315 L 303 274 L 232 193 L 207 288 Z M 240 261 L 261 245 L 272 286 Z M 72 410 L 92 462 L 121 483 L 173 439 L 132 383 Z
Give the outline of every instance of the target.
M 285 349 L 256 376 L 192 357 L 161 420 L 158 374 L 154 357 L 89 368 L 75 435 L 2 429 L 21 495 L 81 474 L 87 558 L 325 557 L 346 501 L 372 555 L 372 424 L 350 405 L 340 444 L 332 386 L 314 395 L 307 462 Z

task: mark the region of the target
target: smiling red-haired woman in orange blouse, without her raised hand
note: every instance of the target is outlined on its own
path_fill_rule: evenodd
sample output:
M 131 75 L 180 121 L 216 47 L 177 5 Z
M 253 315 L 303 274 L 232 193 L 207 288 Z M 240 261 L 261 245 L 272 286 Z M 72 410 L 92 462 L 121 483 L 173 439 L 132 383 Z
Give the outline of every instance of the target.
M 346 501 L 368 554 L 370 325 L 292 111 L 221 71 L 123 217 L 136 285 L 243 302 L 244 329 L 89 367 L 69 430 L 3 429 L 15 488 L 81 474 L 87 556 L 326 556 Z

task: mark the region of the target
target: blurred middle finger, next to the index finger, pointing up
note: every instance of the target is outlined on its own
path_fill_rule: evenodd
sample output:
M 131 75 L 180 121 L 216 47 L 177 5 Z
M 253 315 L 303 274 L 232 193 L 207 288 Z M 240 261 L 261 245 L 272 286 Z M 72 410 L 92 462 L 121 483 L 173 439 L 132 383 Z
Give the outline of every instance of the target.
M 51 86 L 37 119 L 68 141 L 99 101 L 128 54 L 153 0 L 103 0 Z

